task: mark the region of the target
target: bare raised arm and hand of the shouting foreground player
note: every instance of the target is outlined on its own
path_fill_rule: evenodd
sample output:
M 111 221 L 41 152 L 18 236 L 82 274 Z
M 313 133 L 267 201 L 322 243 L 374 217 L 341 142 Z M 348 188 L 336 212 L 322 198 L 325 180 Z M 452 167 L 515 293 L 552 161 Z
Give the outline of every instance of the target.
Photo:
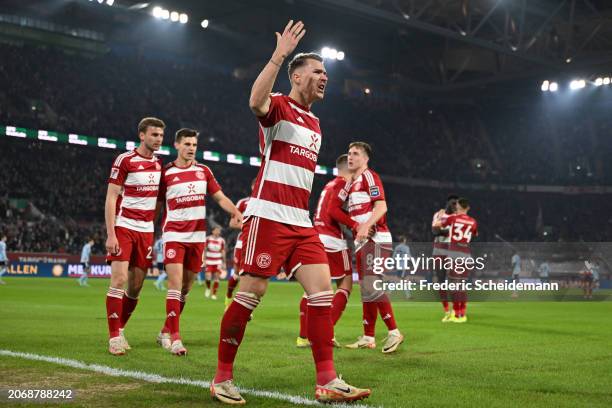
M 298 43 L 306 34 L 304 23 L 298 21 L 293 24 L 293 20 L 289 20 L 282 34 L 276 34 L 276 49 L 272 54 L 272 58 L 263 68 L 253 88 L 251 88 L 251 97 L 249 98 L 249 107 L 257 116 L 266 116 L 270 109 L 270 92 L 274 87 L 276 76 L 280 71 L 285 58 L 289 56 L 297 47 Z

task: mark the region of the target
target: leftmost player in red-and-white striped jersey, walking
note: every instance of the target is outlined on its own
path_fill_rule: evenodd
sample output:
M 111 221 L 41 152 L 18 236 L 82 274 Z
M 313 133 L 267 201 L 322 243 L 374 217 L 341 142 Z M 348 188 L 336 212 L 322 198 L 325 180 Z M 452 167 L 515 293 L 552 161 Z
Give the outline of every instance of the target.
M 123 355 L 130 349 L 123 329 L 138 304 L 151 266 L 153 220 L 162 170 L 162 162 L 154 152 L 163 142 L 165 127 L 160 119 L 142 119 L 138 124 L 140 145 L 117 156 L 108 179 L 104 216 L 111 281 L 106 294 L 106 317 L 108 350 L 113 355 Z

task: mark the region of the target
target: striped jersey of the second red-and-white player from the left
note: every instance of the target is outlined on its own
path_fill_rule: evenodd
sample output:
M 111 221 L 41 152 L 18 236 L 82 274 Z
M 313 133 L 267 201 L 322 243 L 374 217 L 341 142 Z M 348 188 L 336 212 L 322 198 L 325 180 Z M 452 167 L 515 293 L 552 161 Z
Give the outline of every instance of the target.
M 159 197 L 164 200 L 162 238 L 166 242 L 206 240 L 206 194 L 221 190 L 212 171 L 192 162 L 187 167 L 169 163 L 162 173 Z

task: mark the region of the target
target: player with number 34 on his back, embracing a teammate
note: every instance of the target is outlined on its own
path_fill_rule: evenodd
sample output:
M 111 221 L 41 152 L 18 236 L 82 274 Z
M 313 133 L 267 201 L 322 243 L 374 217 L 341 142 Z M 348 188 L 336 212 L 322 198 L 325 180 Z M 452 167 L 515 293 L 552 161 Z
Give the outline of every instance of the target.
M 465 282 L 469 277 L 469 268 L 456 266 L 457 259 L 471 258 L 470 242 L 472 238 L 478 236 L 478 223 L 468 214 L 470 203 L 467 198 L 457 200 L 455 214 L 446 217 L 436 223 L 437 227 L 449 227 L 450 242 L 447 257 L 454 260 L 453 267 L 449 271 L 449 278 L 454 282 Z M 461 265 L 464 265 L 463 263 Z M 467 291 L 453 291 L 453 323 L 467 322 Z

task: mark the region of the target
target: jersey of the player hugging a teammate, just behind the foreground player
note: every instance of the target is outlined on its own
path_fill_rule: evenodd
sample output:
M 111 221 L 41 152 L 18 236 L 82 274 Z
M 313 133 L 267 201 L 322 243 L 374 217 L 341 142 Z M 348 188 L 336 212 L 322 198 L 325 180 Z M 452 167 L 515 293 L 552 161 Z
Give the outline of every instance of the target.
M 332 217 L 332 212 L 335 209 L 343 211 L 342 205 L 348 198 L 350 186 L 351 183 L 344 178 L 336 177 L 321 191 L 314 225 L 326 250 L 342 251 L 348 248 L 340 224 Z

